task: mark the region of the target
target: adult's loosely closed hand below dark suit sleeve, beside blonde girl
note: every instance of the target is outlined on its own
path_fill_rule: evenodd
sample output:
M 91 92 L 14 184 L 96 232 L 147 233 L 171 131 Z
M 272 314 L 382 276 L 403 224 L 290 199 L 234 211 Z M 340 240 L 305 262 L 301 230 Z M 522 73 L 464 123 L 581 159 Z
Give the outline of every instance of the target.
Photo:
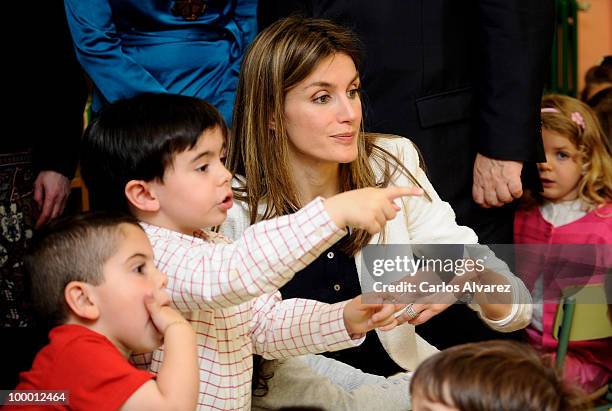
M 472 196 L 484 208 L 500 207 L 523 195 L 523 163 L 476 155 Z

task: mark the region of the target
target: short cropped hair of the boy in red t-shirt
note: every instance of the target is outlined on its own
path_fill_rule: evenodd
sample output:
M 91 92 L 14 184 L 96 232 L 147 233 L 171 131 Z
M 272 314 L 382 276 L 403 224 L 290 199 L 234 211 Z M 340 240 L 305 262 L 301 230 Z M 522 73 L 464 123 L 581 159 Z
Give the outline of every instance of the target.
M 99 285 L 103 266 L 117 252 L 121 224 L 138 221 L 126 214 L 88 213 L 51 222 L 34 236 L 25 256 L 34 307 L 47 325 L 68 315 L 64 289 L 71 281 Z

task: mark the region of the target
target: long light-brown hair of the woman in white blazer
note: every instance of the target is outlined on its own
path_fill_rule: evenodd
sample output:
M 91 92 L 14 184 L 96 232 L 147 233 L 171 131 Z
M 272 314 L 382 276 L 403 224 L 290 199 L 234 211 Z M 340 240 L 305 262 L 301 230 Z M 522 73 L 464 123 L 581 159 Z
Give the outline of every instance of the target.
M 248 204 L 251 224 L 293 213 L 303 206 L 293 183 L 288 156 L 284 118 L 287 92 L 322 60 L 334 54 L 349 56 L 359 68 L 360 50 L 360 43 L 350 30 L 329 20 L 300 17 L 277 21 L 251 44 L 240 70 L 234 133 L 227 148 L 228 169 L 246 179 L 235 189 L 235 195 Z M 339 191 L 386 187 L 396 172 L 405 174 L 421 187 L 397 157 L 375 144 L 377 138 L 380 136 L 366 134 L 362 129 L 357 159 L 340 164 Z M 383 165 L 382 178 L 376 178 L 371 159 Z M 265 205 L 262 217 L 258 216 L 260 204 Z M 371 237 L 366 231 L 354 230 L 344 251 L 354 255 Z

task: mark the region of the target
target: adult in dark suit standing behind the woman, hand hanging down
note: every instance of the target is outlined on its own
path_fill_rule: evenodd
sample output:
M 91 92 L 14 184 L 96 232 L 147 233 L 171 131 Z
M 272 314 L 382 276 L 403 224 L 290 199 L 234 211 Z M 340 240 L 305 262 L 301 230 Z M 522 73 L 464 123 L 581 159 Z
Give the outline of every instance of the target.
M 260 29 L 294 13 L 360 36 L 366 130 L 410 138 L 457 222 L 481 243 L 511 243 L 507 203 L 522 195 L 523 164 L 544 160 L 539 115 L 553 0 L 260 0 Z M 464 308 L 419 334 L 439 348 L 497 337 Z

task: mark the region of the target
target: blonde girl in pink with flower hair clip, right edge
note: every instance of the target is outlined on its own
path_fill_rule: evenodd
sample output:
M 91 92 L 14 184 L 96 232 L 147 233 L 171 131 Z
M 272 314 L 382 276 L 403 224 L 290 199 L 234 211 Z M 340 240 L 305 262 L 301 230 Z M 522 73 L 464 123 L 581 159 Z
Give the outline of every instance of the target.
M 554 353 L 554 301 L 559 287 L 569 285 L 564 283 L 567 274 L 571 276 L 576 268 L 567 261 L 584 261 L 589 254 L 588 266 L 594 267 L 594 273 L 583 275 L 577 285 L 602 283 L 605 271 L 612 266 L 612 160 L 610 145 L 597 118 L 589 107 L 571 97 L 543 98 L 542 138 L 546 162 L 538 164 L 538 170 L 543 191 L 524 198 L 525 207 L 515 217 L 514 242 L 597 245 L 588 248 L 588 252 L 577 246 L 550 247 L 545 253 L 533 251 L 538 247 L 517 247 L 517 270 L 526 275 L 524 280 L 531 288 L 534 303 L 544 301 L 534 305 L 528 328 L 530 342 L 544 352 Z M 559 256 L 563 256 L 563 264 Z M 555 283 L 557 288 L 551 286 Z M 556 293 L 552 300 L 549 293 Z M 570 343 L 564 376 L 588 391 L 597 389 L 612 375 L 611 352 L 610 338 Z

